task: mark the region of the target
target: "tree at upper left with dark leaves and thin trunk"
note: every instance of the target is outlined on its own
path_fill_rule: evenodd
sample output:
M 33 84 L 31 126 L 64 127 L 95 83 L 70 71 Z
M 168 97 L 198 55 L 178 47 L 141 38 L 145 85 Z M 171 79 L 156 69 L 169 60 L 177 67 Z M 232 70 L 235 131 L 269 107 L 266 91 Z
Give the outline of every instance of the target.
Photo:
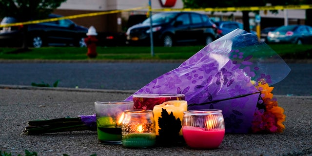
M 0 0 L 0 18 L 13 17 L 20 22 L 44 19 L 66 0 Z M 23 26 L 22 49 L 27 50 L 27 29 Z

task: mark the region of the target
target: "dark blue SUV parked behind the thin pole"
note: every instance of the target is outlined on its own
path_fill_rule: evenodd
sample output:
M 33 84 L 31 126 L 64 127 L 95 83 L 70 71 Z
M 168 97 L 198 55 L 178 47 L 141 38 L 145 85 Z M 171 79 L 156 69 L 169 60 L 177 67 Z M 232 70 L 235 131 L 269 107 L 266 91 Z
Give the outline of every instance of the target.
M 171 47 L 179 42 L 207 45 L 216 39 L 216 26 L 207 15 L 196 12 L 163 12 L 130 27 L 126 33 L 129 45 L 150 43 L 150 33 L 156 45 Z

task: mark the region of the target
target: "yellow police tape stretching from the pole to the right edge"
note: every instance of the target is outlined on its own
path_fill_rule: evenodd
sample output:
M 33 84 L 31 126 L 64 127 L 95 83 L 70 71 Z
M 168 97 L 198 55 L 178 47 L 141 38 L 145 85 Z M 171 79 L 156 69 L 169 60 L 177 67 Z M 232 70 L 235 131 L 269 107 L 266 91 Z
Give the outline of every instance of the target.
M 153 12 L 164 11 L 204 11 L 204 12 L 225 12 L 225 11 L 260 11 L 260 10 L 284 10 L 284 9 L 312 9 L 312 5 L 275 5 L 275 6 L 246 6 L 246 7 L 225 7 L 225 8 L 162 8 L 152 9 Z

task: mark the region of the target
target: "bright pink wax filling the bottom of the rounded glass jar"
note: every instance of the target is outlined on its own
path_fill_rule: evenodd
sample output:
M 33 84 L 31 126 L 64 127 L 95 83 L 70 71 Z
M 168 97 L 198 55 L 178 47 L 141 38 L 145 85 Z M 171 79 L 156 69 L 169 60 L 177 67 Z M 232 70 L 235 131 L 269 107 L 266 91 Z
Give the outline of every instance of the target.
M 215 149 L 221 144 L 225 129 L 205 131 L 199 127 L 184 126 L 182 133 L 185 142 L 192 148 Z

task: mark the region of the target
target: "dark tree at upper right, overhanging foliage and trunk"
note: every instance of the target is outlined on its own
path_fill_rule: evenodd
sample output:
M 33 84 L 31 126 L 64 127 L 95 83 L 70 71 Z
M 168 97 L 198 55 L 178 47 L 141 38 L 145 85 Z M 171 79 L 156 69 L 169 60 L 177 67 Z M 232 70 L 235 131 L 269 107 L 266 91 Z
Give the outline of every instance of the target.
M 248 7 L 272 5 L 301 4 L 309 0 L 182 0 L 185 8 L 215 8 L 215 7 Z M 310 0 L 311 1 L 311 0 Z M 250 32 L 249 12 L 242 11 L 244 30 Z M 276 10 L 273 12 L 277 12 Z

